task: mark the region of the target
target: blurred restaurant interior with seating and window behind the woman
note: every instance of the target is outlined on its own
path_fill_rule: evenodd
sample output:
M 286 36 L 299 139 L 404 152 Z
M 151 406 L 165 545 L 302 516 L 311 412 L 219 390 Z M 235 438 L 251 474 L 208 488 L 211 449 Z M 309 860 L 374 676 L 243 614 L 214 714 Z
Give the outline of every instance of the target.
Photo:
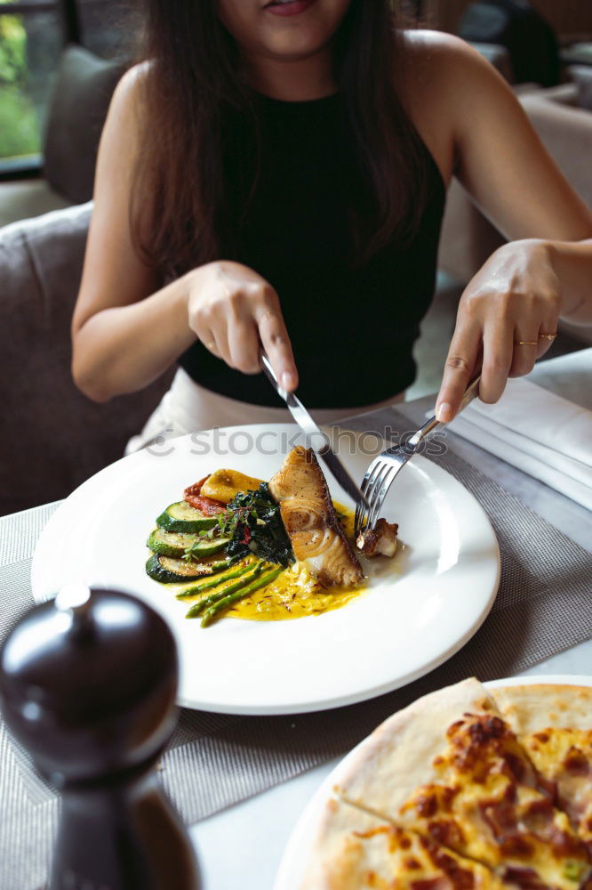
M 500 71 L 592 206 L 592 0 L 407 6 Z M 140 28 L 124 0 L 0 0 L 0 514 L 62 498 L 120 457 L 170 379 L 94 405 L 69 373 L 100 131 Z M 502 240 L 453 182 L 407 398 L 436 392 L 462 289 Z M 590 344 L 588 328 L 563 326 L 548 355 Z

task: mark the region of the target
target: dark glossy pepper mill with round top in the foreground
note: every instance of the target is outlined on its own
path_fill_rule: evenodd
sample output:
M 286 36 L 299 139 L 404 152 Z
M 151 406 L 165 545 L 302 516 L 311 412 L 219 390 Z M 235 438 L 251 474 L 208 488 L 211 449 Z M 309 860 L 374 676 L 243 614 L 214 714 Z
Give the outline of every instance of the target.
M 156 779 L 176 721 L 177 651 L 154 610 L 63 588 L 0 651 L 6 723 L 61 792 L 51 890 L 196 890 L 192 847 Z

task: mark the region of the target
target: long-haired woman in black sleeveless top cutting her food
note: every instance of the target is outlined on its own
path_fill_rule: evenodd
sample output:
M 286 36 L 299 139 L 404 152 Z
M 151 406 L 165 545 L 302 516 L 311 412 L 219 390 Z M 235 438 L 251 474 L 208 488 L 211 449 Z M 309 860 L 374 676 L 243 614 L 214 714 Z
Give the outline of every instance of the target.
M 396 4 L 395 4 L 396 5 Z M 592 214 L 513 93 L 389 0 L 149 0 L 100 143 L 73 374 L 106 401 L 180 360 L 148 423 L 278 418 L 261 344 L 321 420 L 411 384 L 445 188 L 508 237 L 470 281 L 436 410 L 497 401 L 592 320 Z M 300 376 L 300 384 L 299 384 Z M 172 426 L 171 426 L 172 425 Z

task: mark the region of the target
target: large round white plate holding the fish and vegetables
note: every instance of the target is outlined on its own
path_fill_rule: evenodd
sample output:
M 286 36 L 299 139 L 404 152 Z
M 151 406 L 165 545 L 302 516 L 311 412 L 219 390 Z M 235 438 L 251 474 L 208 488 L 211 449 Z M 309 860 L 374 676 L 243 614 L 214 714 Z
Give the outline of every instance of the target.
M 172 627 L 179 700 L 188 708 L 313 711 L 369 699 L 428 673 L 484 621 L 498 587 L 499 552 L 475 498 L 423 457 L 401 473 L 383 511 L 399 522 L 406 549 L 392 571 L 372 578 L 371 590 L 344 608 L 288 621 L 224 619 L 204 630 L 185 619 L 187 604 L 146 575 L 145 541 L 164 506 L 223 466 L 269 479 L 294 440 L 302 441 L 293 425 L 228 427 L 144 449 L 101 470 L 42 532 L 32 567 L 36 601 L 79 579 L 139 595 Z M 361 479 L 370 457 L 344 450 L 344 463 Z M 351 506 L 328 481 L 332 496 Z

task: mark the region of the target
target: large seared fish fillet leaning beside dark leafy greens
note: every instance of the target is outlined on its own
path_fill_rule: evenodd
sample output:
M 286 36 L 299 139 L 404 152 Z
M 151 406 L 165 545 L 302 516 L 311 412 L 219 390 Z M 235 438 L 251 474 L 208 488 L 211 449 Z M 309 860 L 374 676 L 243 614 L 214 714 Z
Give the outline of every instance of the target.
M 293 448 L 269 481 L 294 556 L 327 587 L 351 587 L 364 578 L 332 505 L 312 449 Z

